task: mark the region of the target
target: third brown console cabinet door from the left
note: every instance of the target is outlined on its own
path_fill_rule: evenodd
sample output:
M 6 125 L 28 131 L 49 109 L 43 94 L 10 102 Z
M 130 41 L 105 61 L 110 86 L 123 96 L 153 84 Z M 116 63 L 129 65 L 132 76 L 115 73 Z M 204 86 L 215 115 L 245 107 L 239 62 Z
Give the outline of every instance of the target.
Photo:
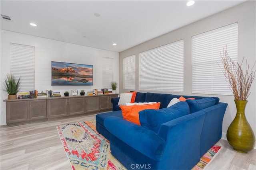
M 47 100 L 47 117 L 55 118 L 68 115 L 68 99 Z

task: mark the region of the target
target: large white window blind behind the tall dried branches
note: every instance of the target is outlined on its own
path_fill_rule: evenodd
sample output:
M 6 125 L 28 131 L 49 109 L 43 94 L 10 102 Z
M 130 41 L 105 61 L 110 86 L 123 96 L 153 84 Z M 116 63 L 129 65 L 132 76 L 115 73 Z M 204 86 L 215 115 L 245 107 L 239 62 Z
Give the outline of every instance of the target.
M 238 23 L 233 23 L 192 37 L 192 92 L 232 95 L 220 53 L 223 48 L 237 62 Z M 218 65 L 220 64 L 220 66 Z

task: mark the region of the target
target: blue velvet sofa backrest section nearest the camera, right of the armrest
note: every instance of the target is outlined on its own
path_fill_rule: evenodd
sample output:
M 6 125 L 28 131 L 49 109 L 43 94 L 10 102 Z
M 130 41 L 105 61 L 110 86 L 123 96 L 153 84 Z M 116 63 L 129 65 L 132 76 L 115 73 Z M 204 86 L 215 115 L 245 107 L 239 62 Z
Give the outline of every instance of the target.
M 204 119 L 205 113 L 198 111 L 161 125 L 158 134 L 166 134 L 166 147 L 158 169 L 192 169 L 200 161 L 200 136 Z

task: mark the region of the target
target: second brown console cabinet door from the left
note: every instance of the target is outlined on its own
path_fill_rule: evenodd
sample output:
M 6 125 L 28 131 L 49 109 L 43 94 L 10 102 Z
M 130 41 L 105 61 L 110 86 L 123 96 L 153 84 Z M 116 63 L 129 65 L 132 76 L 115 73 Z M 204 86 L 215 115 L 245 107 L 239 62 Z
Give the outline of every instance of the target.
M 29 119 L 40 120 L 47 118 L 46 100 L 28 101 Z

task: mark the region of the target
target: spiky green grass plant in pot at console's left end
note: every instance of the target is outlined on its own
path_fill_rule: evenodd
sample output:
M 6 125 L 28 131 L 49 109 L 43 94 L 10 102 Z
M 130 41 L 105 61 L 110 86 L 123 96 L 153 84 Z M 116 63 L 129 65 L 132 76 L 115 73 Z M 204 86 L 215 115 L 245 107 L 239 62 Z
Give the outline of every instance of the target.
M 4 79 L 4 91 L 8 93 L 8 99 L 16 99 L 17 93 L 20 91 L 20 78 L 16 80 L 13 74 L 7 74 Z

